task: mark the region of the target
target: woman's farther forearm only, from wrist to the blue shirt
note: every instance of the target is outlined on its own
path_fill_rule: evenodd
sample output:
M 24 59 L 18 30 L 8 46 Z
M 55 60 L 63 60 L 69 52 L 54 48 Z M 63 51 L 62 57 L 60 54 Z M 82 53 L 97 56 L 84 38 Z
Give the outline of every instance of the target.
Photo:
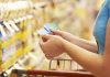
M 96 53 L 97 50 L 98 50 L 98 46 L 97 46 L 96 43 L 87 41 L 87 40 L 84 40 L 84 38 L 79 38 L 79 37 L 76 37 L 76 36 L 73 36 L 70 38 L 70 42 L 73 44 L 76 44 L 76 45 L 78 45 L 78 46 L 80 46 L 80 47 L 82 47 L 82 48 L 85 48 L 87 51 L 94 52 L 94 53 Z

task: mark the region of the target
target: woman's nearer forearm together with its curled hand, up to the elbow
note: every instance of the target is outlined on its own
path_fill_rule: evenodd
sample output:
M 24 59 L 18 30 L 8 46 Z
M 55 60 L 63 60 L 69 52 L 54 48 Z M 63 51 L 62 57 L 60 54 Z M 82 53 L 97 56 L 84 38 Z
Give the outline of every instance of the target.
M 47 58 L 53 58 L 65 52 L 85 69 L 96 76 L 102 76 L 103 57 L 101 55 L 89 52 L 58 35 L 43 35 L 40 45 Z

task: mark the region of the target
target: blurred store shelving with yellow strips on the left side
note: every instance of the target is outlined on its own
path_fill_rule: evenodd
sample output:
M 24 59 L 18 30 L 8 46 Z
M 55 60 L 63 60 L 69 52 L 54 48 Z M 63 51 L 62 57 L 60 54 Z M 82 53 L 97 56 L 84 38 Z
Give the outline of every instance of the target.
M 37 16 L 36 8 L 42 9 L 44 6 L 44 2 L 34 4 L 32 1 L 0 1 L 0 13 L 2 13 L 0 14 L 0 73 L 9 72 L 10 74 L 19 61 L 26 61 L 26 58 L 21 59 L 21 57 L 34 50 L 32 45 L 34 37 L 32 36 L 41 28 L 35 19 Z

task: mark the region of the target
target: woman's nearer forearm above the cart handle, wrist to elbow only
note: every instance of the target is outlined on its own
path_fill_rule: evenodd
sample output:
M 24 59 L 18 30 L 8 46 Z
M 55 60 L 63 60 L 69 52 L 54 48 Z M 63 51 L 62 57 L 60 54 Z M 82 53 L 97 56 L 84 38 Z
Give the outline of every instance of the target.
M 95 75 L 99 75 L 101 73 L 102 57 L 100 55 L 80 48 L 67 41 L 64 42 L 63 46 L 65 52 L 87 70 Z

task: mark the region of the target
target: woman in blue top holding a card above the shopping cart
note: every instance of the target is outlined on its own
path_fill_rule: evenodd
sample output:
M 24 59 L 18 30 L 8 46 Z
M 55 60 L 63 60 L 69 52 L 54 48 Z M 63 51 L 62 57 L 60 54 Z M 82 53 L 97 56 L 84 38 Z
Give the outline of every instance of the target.
M 110 77 L 109 3 L 110 0 L 105 1 L 96 21 L 94 33 L 97 43 L 78 38 L 63 31 L 52 31 L 54 35 L 48 34 L 41 36 L 40 45 L 45 56 L 53 58 L 65 52 L 95 76 Z

